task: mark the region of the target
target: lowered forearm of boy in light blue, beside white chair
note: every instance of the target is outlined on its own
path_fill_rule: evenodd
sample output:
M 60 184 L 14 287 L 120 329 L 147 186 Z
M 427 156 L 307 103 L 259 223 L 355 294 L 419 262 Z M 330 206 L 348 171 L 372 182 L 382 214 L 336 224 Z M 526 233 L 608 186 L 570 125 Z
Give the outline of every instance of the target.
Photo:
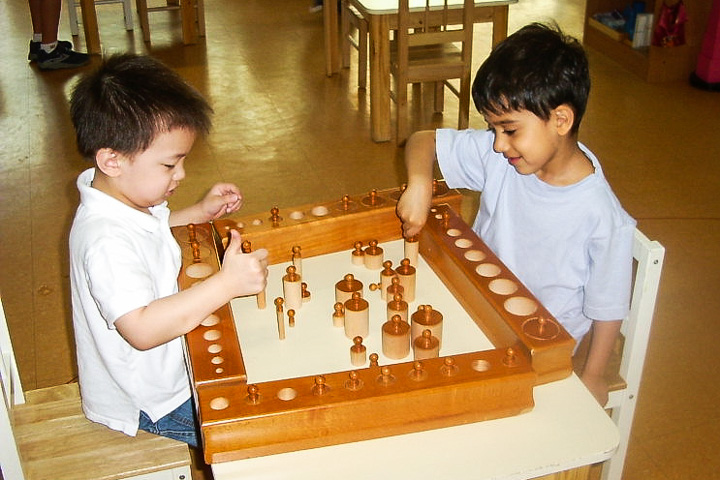
M 608 385 L 605 381 L 605 368 L 615 347 L 622 320 L 593 321 L 590 350 L 581 379 L 600 405 L 608 400 Z

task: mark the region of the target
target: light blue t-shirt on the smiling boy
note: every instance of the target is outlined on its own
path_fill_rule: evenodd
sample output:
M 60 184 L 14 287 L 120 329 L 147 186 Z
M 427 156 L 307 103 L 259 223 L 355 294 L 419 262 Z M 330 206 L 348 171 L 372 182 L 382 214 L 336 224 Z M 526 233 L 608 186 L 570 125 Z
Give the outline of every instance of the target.
M 436 133 L 447 185 L 482 192 L 473 230 L 578 342 L 592 320 L 624 318 L 635 220 L 595 156 L 580 145 L 595 173 L 557 187 L 517 173 L 493 139 L 484 130 Z

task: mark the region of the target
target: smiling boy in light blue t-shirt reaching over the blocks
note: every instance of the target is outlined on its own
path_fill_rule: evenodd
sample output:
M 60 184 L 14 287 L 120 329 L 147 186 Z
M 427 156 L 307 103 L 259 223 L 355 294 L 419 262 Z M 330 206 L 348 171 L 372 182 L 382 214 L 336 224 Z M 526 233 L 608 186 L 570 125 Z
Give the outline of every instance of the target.
M 406 236 L 420 231 L 436 161 L 448 186 L 482 192 L 473 230 L 576 341 L 592 328 L 582 380 L 604 405 L 603 374 L 629 308 L 635 221 L 578 142 L 589 91 L 575 39 L 540 24 L 509 36 L 473 82 L 488 130 L 413 134 L 397 212 Z

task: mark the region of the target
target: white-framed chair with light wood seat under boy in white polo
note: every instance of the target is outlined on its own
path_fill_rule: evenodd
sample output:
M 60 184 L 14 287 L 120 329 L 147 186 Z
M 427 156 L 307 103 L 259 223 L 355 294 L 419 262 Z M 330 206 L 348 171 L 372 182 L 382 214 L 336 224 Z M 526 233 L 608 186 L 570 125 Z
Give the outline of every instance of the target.
M 6 480 L 190 480 L 185 443 L 93 423 L 76 383 L 23 392 L 0 301 L 0 471 Z

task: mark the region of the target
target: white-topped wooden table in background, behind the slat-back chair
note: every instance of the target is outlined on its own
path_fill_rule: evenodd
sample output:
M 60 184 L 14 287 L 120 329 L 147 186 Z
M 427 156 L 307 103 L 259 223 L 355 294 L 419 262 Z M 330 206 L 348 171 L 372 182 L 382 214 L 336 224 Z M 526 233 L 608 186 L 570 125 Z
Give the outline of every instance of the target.
M 349 0 L 368 21 L 370 32 L 370 123 L 371 136 L 376 142 L 391 138 L 390 120 L 390 31 L 397 29 L 396 0 Z M 497 45 L 507 36 L 508 7 L 518 0 L 478 0 L 475 2 L 475 23 L 492 22 L 492 44 Z M 325 0 L 326 73 L 340 70 L 340 38 L 338 33 L 335 0 Z M 457 21 L 461 21 L 461 0 L 450 0 L 457 5 Z M 332 4 L 332 5 L 330 5 Z M 413 2 L 410 2 L 411 8 Z

